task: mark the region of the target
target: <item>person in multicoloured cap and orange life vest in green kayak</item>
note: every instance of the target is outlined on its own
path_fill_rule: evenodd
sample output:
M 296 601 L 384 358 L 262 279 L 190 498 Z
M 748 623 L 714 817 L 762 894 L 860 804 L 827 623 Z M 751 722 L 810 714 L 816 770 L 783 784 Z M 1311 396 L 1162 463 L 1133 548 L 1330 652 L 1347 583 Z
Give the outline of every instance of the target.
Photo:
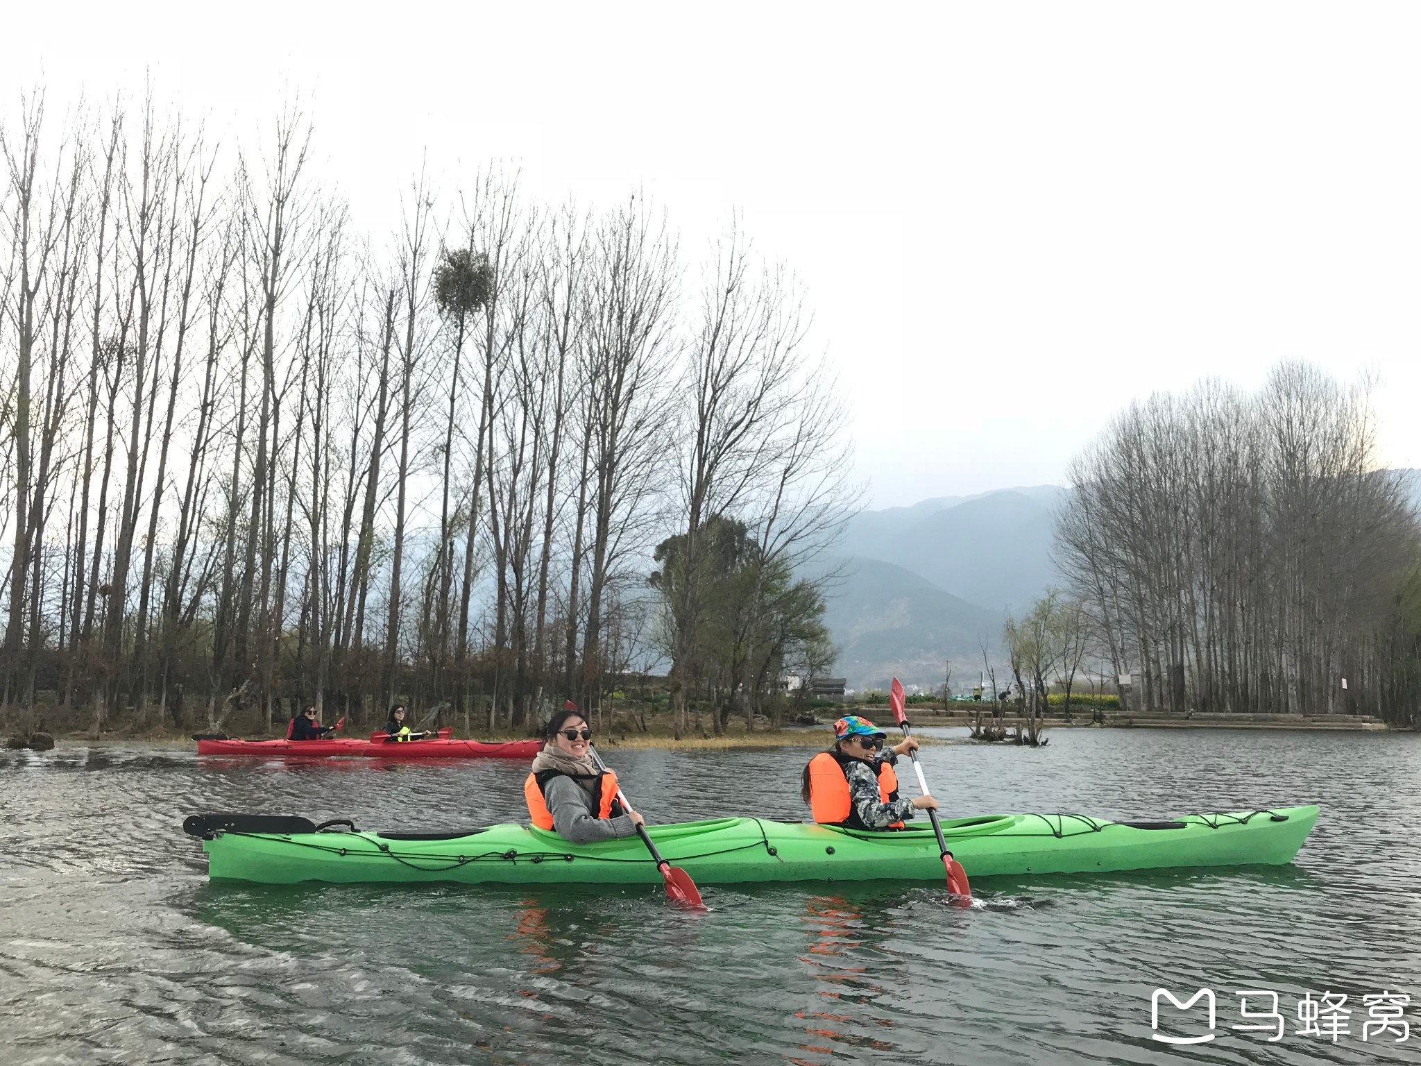
M 898 795 L 894 763 L 918 748 L 911 736 L 884 752 L 887 733 L 858 715 L 834 722 L 834 746 L 809 760 L 800 795 L 826 826 L 902 829 L 915 810 L 936 810 L 932 796 Z

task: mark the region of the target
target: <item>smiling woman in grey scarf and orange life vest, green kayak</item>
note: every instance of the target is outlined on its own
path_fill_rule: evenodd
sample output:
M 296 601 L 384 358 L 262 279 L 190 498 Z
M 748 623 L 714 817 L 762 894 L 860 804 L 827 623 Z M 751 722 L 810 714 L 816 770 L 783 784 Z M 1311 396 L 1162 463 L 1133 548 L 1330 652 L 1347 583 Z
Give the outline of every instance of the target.
M 617 775 L 598 770 L 591 755 L 593 731 L 577 711 L 558 711 L 547 723 L 547 743 L 523 782 L 529 816 L 574 844 L 637 834 L 644 824 L 635 810 L 617 800 Z

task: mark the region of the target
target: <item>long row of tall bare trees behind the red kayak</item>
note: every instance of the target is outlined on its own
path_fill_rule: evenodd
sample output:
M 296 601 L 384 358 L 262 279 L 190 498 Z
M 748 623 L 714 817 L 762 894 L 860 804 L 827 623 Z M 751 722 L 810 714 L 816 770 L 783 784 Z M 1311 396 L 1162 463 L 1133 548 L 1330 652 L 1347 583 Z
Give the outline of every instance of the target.
M 688 318 L 635 198 L 549 210 L 490 171 L 439 235 L 419 182 L 372 250 L 294 109 L 264 156 L 152 95 L 43 118 L 0 132 L 0 716 L 43 677 L 95 733 L 396 691 L 466 721 L 487 694 L 499 728 L 557 688 L 601 714 L 651 657 L 652 546 L 713 522 L 733 624 L 703 665 L 710 593 L 678 590 L 678 708 L 701 685 L 753 722 L 786 662 L 831 661 L 843 409 L 739 223 Z

